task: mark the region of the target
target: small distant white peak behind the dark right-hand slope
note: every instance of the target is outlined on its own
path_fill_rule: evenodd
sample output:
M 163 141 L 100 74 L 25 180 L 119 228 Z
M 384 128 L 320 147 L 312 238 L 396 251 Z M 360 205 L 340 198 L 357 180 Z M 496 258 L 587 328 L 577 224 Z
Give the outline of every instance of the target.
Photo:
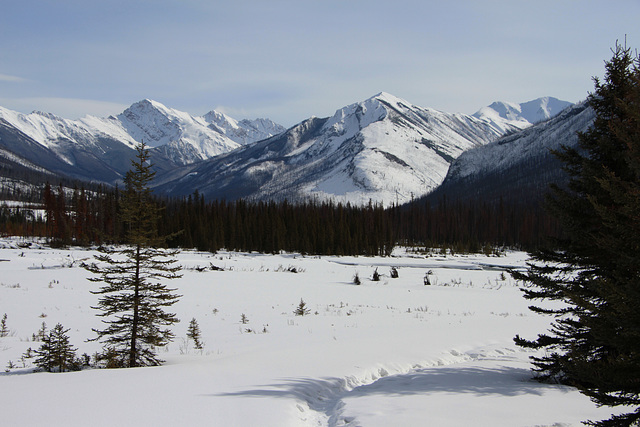
M 550 96 L 521 104 L 497 101 L 481 108 L 473 116 L 492 123 L 506 132 L 509 129 L 504 127 L 505 123 L 512 127 L 525 129 L 534 123 L 550 119 L 570 105 L 572 105 L 571 102 L 561 101 Z

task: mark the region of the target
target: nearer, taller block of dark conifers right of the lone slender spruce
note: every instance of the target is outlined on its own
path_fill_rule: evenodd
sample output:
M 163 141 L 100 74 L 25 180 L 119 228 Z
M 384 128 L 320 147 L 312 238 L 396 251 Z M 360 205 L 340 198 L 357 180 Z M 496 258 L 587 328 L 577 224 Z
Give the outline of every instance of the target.
M 195 193 L 166 204 L 165 233 L 180 247 L 274 253 L 387 255 L 394 245 L 390 217 L 378 204 L 333 202 L 205 202 Z

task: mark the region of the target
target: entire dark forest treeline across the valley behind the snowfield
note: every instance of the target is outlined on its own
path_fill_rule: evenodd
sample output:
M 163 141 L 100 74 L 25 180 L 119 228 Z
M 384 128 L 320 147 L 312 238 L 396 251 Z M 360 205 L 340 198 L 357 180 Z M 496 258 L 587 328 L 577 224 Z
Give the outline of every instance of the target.
M 38 236 L 53 244 L 123 241 L 118 189 L 87 190 L 45 185 L 40 204 L 0 205 L 0 233 Z M 455 252 L 487 248 L 534 249 L 559 226 L 535 203 L 474 200 L 437 204 L 419 200 L 384 208 L 318 201 L 304 203 L 207 201 L 197 192 L 186 198 L 158 198 L 161 234 L 172 247 L 215 252 L 389 255 L 395 245 L 444 247 Z

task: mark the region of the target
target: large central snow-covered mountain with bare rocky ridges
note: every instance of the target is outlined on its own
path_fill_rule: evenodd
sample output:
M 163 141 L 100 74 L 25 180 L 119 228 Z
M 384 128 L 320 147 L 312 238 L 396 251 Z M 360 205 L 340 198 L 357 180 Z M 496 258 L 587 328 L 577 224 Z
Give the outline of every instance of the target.
M 380 93 L 183 168 L 160 189 L 228 199 L 402 203 L 438 186 L 455 158 L 504 129 L 518 127 L 510 119 L 449 114 Z

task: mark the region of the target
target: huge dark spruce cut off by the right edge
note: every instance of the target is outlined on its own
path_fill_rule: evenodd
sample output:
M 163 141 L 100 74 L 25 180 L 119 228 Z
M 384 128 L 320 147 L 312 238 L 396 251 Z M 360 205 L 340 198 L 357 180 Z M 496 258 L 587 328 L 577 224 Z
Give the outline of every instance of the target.
M 577 149 L 557 153 L 571 181 L 552 188 L 548 207 L 565 236 L 514 274 L 529 283 L 526 298 L 563 304 L 531 307 L 555 316 L 553 326 L 515 341 L 547 350 L 532 358 L 541 379 L 574 385 L 598 405 L 635 407 L 589 424 L 630 426 L 640 423 L 640 64 L 626 47 L 613 52 L 588 99 L 593 126 Z

